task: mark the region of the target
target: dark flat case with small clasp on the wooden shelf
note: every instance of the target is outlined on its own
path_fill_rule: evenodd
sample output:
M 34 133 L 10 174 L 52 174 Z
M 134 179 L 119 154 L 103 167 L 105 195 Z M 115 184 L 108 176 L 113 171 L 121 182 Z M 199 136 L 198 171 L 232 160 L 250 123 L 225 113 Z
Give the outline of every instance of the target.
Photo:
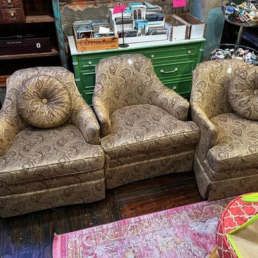
M 51 52 L 50 38 L 0 40 L 0 55 L 44 52 Z

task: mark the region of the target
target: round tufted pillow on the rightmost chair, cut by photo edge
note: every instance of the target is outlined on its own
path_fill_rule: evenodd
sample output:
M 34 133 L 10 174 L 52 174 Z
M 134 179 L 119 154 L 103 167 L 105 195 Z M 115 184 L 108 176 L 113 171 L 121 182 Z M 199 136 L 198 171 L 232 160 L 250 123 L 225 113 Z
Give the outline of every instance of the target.
M 258 67 L 250 67 L 233 78 L 228 87 L 228 102 L 239 116 L 258 120 Z

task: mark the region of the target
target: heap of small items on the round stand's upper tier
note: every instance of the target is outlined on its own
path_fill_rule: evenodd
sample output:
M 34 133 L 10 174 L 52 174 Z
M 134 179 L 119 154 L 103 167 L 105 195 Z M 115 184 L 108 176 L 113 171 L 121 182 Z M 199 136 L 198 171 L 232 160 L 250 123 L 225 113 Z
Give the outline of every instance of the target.
M 222 12 L 224 17 L 232 23 L 239 23 L 239 25 L 258 25 L 258 3 L 252 1 L 244 1 L 240 4 L 231 2 L 222 5 Z

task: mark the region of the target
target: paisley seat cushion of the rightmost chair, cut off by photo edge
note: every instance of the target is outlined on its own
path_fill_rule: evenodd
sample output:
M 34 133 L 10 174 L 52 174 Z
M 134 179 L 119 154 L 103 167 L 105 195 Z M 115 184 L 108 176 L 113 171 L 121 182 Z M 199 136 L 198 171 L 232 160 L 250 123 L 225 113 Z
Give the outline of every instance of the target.
M 217 145 L 206 162 L 215 172 L 258 167 L 258 121 L 236 113 L 219 114 L 211 119 L 217 128 Z

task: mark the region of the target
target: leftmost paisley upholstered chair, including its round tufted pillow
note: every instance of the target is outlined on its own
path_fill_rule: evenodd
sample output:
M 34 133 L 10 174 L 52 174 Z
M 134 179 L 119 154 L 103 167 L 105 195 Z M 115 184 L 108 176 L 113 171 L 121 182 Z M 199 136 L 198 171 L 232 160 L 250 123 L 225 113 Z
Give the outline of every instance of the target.
M 7 80 L 0 111 L 0 215 L 105 197 L 99 125 L 63 67 L 34 67 Z

